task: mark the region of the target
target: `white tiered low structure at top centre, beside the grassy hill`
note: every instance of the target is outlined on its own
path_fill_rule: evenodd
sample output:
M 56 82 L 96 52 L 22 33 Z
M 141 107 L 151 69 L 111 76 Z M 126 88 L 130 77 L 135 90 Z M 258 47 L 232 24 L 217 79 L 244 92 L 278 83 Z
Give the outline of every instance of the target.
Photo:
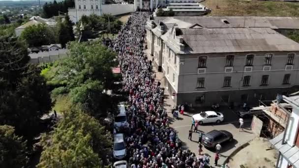
M 210 12 L 208 8 L 200 3 L 168 3 L 165 7 L 162 8 L 164 12 L 172 10 L 174 16 L 200 16 L 206 15 Z M 155 17 L 158 12 L 156 8 L 153 12 Z

